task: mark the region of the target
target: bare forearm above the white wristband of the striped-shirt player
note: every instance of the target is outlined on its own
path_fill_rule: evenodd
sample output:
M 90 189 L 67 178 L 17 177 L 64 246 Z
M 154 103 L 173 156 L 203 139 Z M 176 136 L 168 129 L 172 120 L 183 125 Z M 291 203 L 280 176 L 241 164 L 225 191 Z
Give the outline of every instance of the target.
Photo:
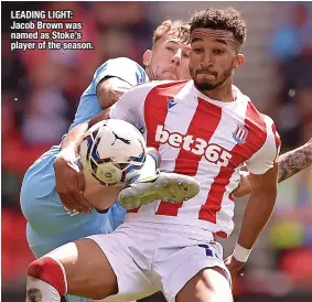
M 238 244 L 252 248 L 261 230 L 268 223 L 277 199 L 277 191 L 252 192 L 246 206 Z

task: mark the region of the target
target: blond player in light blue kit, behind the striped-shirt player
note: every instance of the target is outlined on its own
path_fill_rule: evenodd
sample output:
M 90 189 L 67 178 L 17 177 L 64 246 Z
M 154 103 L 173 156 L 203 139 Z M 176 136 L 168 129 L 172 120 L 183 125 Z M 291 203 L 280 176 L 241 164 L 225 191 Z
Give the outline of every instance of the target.
M 165 21 L 158 30 L 153 36 L 152 51 L 147 51 L 143 55 L 149 77 L 151 79 L 190 78 L 189 46 L 185 44 L 189 37 L 187 26 L 182 22 Z M 126 57 L 104 63 L 96 71 L 92 84 L 83 94 L 69 130 L 110 107 L 127 89 L 148 82 L 147 73 L 138 63 Z M 63 194 L 60 193 L 57 180 L 58 184 L 64 187 L 64 183 L 67 182 L 66 175 L 71 176 L 66 173 L 76 173 L 71 168 L 72 155 L 66 158 L 66 149 L 71 149 L 72 145 L 63 145 L 65 137 L 63 137 L 62 144 L 52 147 L 34 162 L 25 173 L 22 183 L 21 208 L 28 220 L 29 246 L 35 257 L 41 257 L 80 237 L 111 233 L 123 222 L 126 213 L 118 203 L 115 203 L 108 211 L 99 213 L 84 199 L 83 194 L 76 194 L 74 190 L 67 192 L 65 190 Z M 63 161 L 66 165 L 65 175 L 55 173 L 56 161 Z M 73 172 L 68 172 L 69 170 Z M 74 186 L 84 188 L 79 177 L 72 177 L 73 180 L 77 182 L 73 184 Z M 80 203 L 77 203 L 77 199 Z M 90 301 L 69 295 L 66 295 L 66 299 L 71 302 Z

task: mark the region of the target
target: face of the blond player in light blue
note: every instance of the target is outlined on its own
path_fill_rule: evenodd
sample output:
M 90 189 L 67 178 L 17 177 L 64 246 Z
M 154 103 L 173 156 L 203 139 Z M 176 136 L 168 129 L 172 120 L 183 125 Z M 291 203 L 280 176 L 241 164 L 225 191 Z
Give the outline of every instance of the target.
M 160 39 L 143 55 L 150 79 L 190 79 L 190 45 L 174 34 Z

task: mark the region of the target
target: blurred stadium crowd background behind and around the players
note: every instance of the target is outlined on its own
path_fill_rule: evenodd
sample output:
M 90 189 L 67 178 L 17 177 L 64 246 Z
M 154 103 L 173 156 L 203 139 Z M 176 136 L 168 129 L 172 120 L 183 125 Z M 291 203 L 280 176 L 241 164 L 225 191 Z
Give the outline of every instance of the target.
M 19 206 L 25 170 L 61 137 L 95 69 L 109 57 L 141 63 L 153 29 L 164 19 L 187 20 L 195 10 L 233 6 L 248 24 L 245 66 L 235 84 L 282 138 L 282 150 L 312 136 L 312 3 L 310 2 L 2 2 L 2 301 L 24 301 L 33 259 Z M 10 52 L 10 11 L 74 11 L 83 41 L 94 51 Z M 246 201 L 236 201 L 235 244 Z M 244 274 L 234 281 L 236 301 L 312 301 L 312 169 L 279 186 L 273 217 Z M 162 301 L 154 299 L 154 301 Z

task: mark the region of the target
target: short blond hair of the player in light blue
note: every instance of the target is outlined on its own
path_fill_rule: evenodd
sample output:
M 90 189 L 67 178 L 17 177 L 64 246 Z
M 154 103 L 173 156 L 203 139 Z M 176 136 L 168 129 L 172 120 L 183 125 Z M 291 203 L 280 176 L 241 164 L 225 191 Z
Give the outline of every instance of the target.
M 181 42 L 189 42 L 190 37 L 190 25 L 182 20 L 165 20 L 163 21 L 153 33 L 153 45 L 157 41 L 164 37 L 168 33 L 177 34 Z

